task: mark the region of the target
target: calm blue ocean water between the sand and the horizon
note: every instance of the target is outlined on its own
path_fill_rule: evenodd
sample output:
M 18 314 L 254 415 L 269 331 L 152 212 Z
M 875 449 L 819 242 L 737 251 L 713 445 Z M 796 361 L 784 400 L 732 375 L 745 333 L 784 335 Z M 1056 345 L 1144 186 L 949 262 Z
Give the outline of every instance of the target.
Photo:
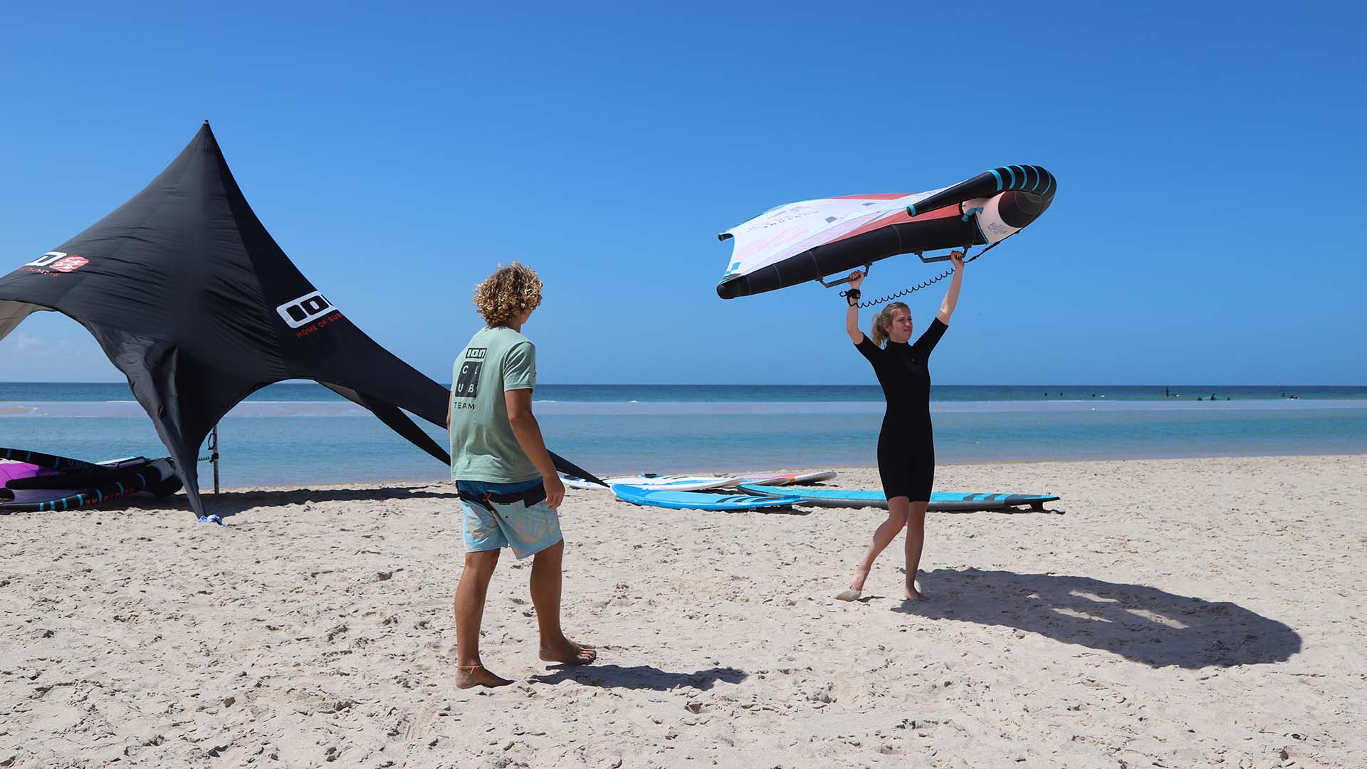
M 543 384 L 534 409 L 547 445 L 599 475 L 760 472 L 875 464 L 883 400 L 876 386 Z M 1367 452 L 1367 387 L 938 384 L 931 413 L 942 464 Z M 254 393 L 219 442 L 226 487 L 447 476 L 313 383 Z M 165 454 L 123 383 L 0 383 L 0 446 Z

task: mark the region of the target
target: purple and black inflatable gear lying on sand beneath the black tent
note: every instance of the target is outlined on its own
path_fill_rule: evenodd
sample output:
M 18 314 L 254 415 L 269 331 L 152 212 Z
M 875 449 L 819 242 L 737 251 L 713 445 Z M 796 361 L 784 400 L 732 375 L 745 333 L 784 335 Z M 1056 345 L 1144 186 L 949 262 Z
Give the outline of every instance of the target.
M 170 458 L 124 457 L 87 462 L 23 449 L 0 449 L 0 514 L 75 510 L 130 494 L 175 494 Z

